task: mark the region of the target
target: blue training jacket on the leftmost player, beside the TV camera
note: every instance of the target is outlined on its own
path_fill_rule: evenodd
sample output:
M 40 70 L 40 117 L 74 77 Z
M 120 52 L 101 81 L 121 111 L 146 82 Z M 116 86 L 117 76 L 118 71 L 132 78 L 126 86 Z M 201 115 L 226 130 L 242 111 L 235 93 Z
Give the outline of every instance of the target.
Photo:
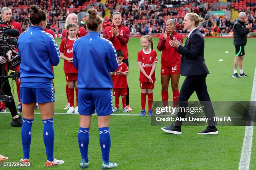
M 54 37 L 39 26 L 30 26 L 18 39 L 21 82 L 51 82 L 51 65 L 58 65 L 59 47 Z

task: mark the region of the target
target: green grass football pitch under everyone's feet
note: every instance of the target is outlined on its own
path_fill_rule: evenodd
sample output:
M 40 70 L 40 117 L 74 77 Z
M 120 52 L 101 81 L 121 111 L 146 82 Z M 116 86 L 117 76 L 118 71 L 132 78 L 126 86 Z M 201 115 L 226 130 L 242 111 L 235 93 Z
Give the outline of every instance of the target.
M 56 39 L 58 45 L 60 39 Z M 154 38 L 154 50 L 157 51 L 158 38 Z M 232 38 L 205 38 L 205 60 L 210 75 L 207 76 L 207 88 L 213 101 L 250 100 L 255 70 L 255 38 L 248 38 L 245 47 L 243 70 L 248 77 L 232 78 L 235 47 Z M 139 87 L 139 71 L 137 66 L 137 52 L 141 50 L 139 38 L 130 38 L 129 75 L 130 105 L 133 111 L 130 114 L 139 114 L 141 110 Z M 228 51 L 229 53 L 225 53 Z M 161 52 L 157 51 L 158 58 Z M 96 56 L 97 57 L 97 56 Z M 223 62 L 218 60 L 222 59 Z M 154 100 L 161 100 L 160 61 L 156 66 L 156 83 Z M 63 60 L 54 67 L 55 79 L 55 112 L 65 112 L 67 104 L 65 92 L 65 77 Z M 184 77 L 180 78 L 179 88 Z M 16 87 L 14 87 L 16 89 Z M 169 86 L 169 99 L 172 99 L 172 90 Z M 190 100 L 197 100 L 194 94 Z M 17 95 L 15 95 L 17 104 Z M 121 102 L 120 102 L 121 104 Z M 146 104 L 147 110 L 147 104 Z M 39 110 L 36 110 L 39 112 Z M 119 112 L 122 113 L 122 112 Z M 9 157 L 6 162 L 18 162 L 23 156 L 20 138 L 20 128 L 10 126 L 10 114 L 0 113 L 0 153 Z M 77 142 L 79 128 L 78 115 L 54 116 L 54 157 L 65 161 L 64 165 L 52 167 L 58 170 L 80 169 L 80 153 Z M 116 170 L 234 170 L 238 169 L 241 149 L 243 145 L 243 126 L 218 126 L 218 135 L 199 136 L 197 132 L 202 126 L 184 126 L 182 135 L 170 135 L 161 131 L 159 126 L 151 126 L 150 117 L 140 116 L 111 116 L 110 160 L 118 163 Z M 36 115 L 32 127 L 31 141 L 31 168 L 35 170 L 49 169 L 45 167 L 46 153 L 43 142 L 43 124 L 41 116 Z M 254 130 L 254 135 L 256 135 Z M 255 140 L 251 150 L 250 169 L 256 169 Z M 89 144 L 89 170 L 101 168 L 101 151 L 97 117 L 92 116 Z M 27 169 L 4 167 L 0 169 Z

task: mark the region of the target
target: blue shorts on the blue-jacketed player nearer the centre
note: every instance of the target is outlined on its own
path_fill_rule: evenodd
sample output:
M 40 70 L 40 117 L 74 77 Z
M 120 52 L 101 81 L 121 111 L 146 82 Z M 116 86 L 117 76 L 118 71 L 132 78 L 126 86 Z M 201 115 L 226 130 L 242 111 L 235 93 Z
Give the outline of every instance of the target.
M 78 112 L 80 115 L 107 116 L 114 112 L 112 94 L 109 89 L 79 89 Z

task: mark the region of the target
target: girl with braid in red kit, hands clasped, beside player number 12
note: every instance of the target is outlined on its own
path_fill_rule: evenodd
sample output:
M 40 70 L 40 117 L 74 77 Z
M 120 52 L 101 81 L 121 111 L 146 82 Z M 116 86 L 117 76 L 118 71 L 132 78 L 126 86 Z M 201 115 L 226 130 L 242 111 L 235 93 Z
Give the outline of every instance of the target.
M 158 62 L 156 51 L 153 50 L 152 37 L 144 35 L 141 37 L 143 49 L 138 52 L 138 67 L 140 70 L 141 86 L 141 116 L 146 115 L 146 95 L 148 94 L 148 115 L 152 116 L 153 89 L 155 86 L 155 69 Z M 151 45 L 151 48 L 149 47 Z

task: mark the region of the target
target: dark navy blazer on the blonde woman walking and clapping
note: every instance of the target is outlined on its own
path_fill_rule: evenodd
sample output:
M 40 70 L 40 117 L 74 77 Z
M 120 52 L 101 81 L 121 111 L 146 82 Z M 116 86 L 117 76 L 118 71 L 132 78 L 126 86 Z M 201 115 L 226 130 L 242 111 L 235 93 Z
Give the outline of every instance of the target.
M 209 74 L 205 64 L 204 49 L 204 37 L 196 28 L 187 38 L 184 47 L 180 45 L 178 48 L 178 52 L 182 55 L 180 63 L 182 76 Z

